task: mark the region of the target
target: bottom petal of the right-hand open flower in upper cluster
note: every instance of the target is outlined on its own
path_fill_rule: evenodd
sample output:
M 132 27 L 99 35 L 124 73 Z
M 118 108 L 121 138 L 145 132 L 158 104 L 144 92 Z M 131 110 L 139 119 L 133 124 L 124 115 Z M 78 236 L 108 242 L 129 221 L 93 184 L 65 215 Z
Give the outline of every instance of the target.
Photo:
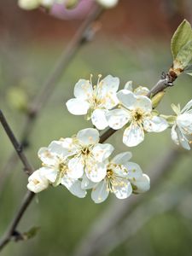
M 142 143 L 144 140 L 144 131 L 143 127 L 139 125 L 131 124 L 124 131 L 123 143 L 127 147 L 137 146 L 139 143 Z

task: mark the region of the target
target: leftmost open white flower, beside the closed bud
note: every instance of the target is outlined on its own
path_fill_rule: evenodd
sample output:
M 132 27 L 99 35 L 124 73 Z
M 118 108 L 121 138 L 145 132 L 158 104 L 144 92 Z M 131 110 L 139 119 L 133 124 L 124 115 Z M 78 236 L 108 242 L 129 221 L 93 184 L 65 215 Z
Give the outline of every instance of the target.
M 48 148 L 38 150 L 38 157 L 42 160 L 43 167 L 36 172 L 40 172 L 41 177 L 48 180 L 54 187 L 62 184 L 73 195 L 82 198 L 86 195 L 86 191 L 81 189 L 81 183 L 78 179 L 68 177 L 67 156 L 70 154 L 62 144 L 61 141 L 54 141 L 49 144 Z

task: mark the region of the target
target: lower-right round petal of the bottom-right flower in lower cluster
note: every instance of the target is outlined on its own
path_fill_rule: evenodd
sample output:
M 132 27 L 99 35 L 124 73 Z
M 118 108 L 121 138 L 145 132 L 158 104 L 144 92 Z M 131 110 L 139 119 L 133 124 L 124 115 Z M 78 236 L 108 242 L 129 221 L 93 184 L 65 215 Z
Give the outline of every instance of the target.
M 131 183 L 122 178 L 122 183 L 119 186 L 113 186 L 113 193 L 119 199 L 125 199 L 129 197 L 132 193 Z

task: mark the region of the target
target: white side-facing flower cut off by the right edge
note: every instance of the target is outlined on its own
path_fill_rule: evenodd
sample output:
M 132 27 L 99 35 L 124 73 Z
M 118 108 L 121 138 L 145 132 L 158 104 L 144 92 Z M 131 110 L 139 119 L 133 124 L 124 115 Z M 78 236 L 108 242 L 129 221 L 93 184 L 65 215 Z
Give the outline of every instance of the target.
M 186 136 L 192 135 L 192 100 L 190 100 L 181 110 L 180 106 L 172 104 L 173 111 L 177 114 L 172 126 L 172 140 L 177 145 L 180 143 L 183 148 L 190 149 L 192 141 Z

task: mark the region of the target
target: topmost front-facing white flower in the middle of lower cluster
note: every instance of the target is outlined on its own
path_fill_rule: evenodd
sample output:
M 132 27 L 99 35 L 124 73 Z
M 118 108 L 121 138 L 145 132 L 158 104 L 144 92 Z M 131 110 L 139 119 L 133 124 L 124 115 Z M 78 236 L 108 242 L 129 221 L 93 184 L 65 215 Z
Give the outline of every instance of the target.
M 111 144 L 99 143 L 99 132 L 93 128 L 83 129 L 73 138 L 62 140 L 71 154 L 68 161 L 68 176 L 83 177 L 97 183 L 106 176 L 108 156 L 113 152 Z

